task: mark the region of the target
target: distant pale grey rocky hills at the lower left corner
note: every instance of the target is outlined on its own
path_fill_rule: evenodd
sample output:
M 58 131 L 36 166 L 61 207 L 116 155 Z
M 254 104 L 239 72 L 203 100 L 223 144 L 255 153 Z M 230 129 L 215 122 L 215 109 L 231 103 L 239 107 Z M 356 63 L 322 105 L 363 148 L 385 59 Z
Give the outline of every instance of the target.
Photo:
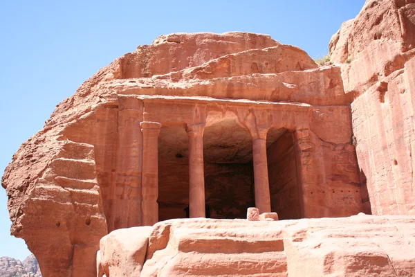
M 39 263 L 32 254 L 23 262 L 9 257 L 0 258 L 1 277 L 42 277 Z

